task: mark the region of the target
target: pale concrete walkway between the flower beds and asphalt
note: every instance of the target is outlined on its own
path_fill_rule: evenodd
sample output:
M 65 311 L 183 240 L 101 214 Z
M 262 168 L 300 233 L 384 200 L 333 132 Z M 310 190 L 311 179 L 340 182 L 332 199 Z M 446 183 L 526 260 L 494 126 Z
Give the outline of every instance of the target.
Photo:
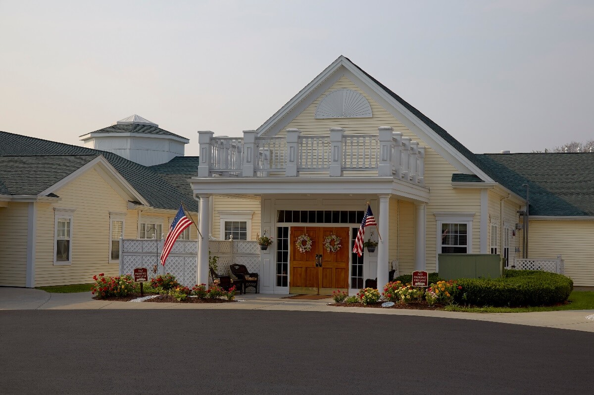
M 544 311 L 539 313 L 460 313 L 456 311 L 398 310 L 389 308 L 332 307 L 331 298 L 321 300 L 283 299 L 286 295 L 236 295 L 235 303 L 151 303 L 93 300 L 90 292 L 50 294 L 39 289 L 0 287 L 0 310 L 99 310 L 99 309 L 208 309 L 328 311 L 331 313 L 396 314 L 459 318 L 507 324 L 541 326 L 594 332 L 594 320 L 586 318 L 594 310 Z

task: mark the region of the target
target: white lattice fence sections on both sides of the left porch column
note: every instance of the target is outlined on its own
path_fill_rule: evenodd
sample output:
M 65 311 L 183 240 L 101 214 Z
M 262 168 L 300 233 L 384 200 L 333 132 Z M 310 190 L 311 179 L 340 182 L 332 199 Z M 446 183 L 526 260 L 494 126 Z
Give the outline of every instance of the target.
M 120 275 L 132 274 L 134 269 L 144 267 L 149 278 L 171 273 L 185 286 L 194 286 L 197 281 L 197 240 L 178 240 L 169 253 L 165 267 L 160 265 L 163 240 L 124 239 L 121 241 L 122 259 Z M 218 274 L 228 275 L 229 265 L 245 265 L 249 272 L 260 271 L 260 247 L 256 241 L 209 241 L 211 256 L 217 256 Z M 156 271 L 155 271 L 156 270 Z

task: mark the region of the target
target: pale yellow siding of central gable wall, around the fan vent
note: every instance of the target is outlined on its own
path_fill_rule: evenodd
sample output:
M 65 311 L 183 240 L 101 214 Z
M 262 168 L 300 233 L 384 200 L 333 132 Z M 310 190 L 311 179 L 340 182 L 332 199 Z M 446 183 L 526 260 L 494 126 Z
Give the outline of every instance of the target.
M 347 88 L 355 90 L 369 101 L 373 116 L 370 118 L 334 118 L 334 119 L 315 119 L 315 109 L 320 101 L 326 97 L 331 91 Z M 364 91 L 359 89 L 352 81 L 346 77 L 340 78 L 332 87 L 330 87 L 323 95 L 310 104 L 307 109 L 295 117 L 287 129 L 300 129 L 304 135 L 327 135 L 330 133 L 330 128 L 345 128 L 346 133 L 377 133 L 379 126 L 391 126 L 395 131 L 401 132 L 403 136 L 410 137 L 413 141 L 418 141 L 419 145 L 425 146 L 425 186 L 431 190 L 430 202 L 427 205 L 426 217 L 426 269 L 429 271 L 435 270 L 435 261 L 437 259 L 436 250 L 436 236 L 437 236 L 437 221 L 435 221 L 434 212 L 472 212 L 475 214 L 473 218 L 472 228 L 472 252 L 479 253 L 480 251 L 480 222 L 481 222 L 481 192 L 477 190 L 467 189 L 453 189 L 451 187 L 451 175 L 453 173 L 460 173 L 453 165 L 448 163 L 443 157 L 431 149 L 424 141 L 418 138 L 415 134 L 410 132 L 399 120 L 394 118 L 392 114 L 387 112 L 376 101 L 369 97 Z M 282 133 L 279 133 L 282 134 Z M 358 174 L 361 175 L 361 174 Z M 402 206 L 400 215 L 408 216 L 414 219 L 415 206 L 409 204 Z M 401 217 L 402 218 L 402 217 Z M 412 222 L 414 223 L 414 221 Z M 402 237 L 402 236 L 401 236 Z M 411 238 L 412 246 L 414 232 L 407 234 Z M 390 241 L 390 244 L 392 241 Z M 411 247 L 414 251 L 414 248 Z M 408 261 L 405 261 L 408 262 Z M 405 273 L 404 267 L 400 265 L 401 273 Z M 410 270 L 412 271 L 413 263 L 410 261 Z

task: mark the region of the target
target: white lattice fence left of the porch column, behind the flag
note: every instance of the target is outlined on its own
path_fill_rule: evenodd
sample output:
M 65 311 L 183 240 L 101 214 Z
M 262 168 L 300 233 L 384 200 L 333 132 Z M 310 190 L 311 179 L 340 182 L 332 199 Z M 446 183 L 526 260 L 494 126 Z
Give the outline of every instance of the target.
M 185 286 L 196 283 L 197 263 L 196 254 L 198 243 L 195 240 L 178 240 L 173 245 L 165 267 L 160 265 L 159 258 L 163 250 L 163 240 L 122 240 L 122 259 L 119 273 L 131 274 L 134 269 L 144 267 L 149 272 L 149 278 L 156 274 L 171 273 Z M 157 273 L 153 272 L 154 267 Z

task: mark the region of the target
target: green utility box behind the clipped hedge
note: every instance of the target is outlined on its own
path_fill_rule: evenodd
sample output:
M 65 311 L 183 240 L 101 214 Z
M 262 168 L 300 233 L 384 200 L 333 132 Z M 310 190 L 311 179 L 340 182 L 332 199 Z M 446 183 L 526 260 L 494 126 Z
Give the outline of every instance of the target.
M 439 254 L 439 275 L 445 280 L 458 278 L 500 278 L 501 256 L 495 254 Z

